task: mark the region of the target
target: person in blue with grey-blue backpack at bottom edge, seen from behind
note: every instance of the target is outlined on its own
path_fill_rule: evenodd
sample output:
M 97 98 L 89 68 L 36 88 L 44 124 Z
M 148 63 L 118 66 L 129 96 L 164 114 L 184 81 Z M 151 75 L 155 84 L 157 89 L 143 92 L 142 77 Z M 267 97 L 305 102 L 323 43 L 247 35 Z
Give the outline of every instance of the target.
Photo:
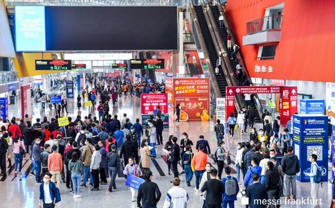
M 224 185 L 224 194 L 222 194 L 222 208 L 234 207 L 234 202 L 237 200 L 237 193 L 239 193 L 239 184 L 236 177 L 230 175 L 230 167 L 224 168 L 226 177 L 223 177 L 221 182 Z

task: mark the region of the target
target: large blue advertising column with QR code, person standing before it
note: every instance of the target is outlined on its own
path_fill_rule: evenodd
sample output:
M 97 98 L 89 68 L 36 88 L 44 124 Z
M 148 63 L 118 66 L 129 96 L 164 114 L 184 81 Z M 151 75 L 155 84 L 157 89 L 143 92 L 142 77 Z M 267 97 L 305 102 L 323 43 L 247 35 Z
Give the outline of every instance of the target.
M 305 173 L 311 172 L 309 155 L 318 156 L 316 163 L 322 169 L 323 182 L 328 180 L 328 117 L 317 115 L 293 115 L 293 151 L 299 158 L 300 182 L 310 182 Z

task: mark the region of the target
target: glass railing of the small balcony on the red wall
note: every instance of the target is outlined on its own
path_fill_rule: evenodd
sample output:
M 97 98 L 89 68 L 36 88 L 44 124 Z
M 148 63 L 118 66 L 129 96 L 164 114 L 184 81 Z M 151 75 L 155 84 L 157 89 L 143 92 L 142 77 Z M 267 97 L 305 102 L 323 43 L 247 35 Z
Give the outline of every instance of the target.
M 282 15 L 271 15 L 248 21 L 246 23 L 246 34 L 260 33 L 263 31 L 280 31 L 282 26 Z

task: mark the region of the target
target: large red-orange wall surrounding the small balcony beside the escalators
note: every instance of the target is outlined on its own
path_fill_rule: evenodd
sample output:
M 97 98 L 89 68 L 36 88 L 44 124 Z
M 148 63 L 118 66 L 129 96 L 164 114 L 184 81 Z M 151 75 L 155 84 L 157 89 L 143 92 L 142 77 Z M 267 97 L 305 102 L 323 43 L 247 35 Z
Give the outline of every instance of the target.
M 242 46 L 246 22 L 264 16 L 266 8 L 284 2 L 282 33 L 274 60 L 257 60 L 257 46 Z M 334 82 L 335 1 L 228 0 L 226 17 L 252 77 Z M 255 65 L 273 67 L 255 73 Z

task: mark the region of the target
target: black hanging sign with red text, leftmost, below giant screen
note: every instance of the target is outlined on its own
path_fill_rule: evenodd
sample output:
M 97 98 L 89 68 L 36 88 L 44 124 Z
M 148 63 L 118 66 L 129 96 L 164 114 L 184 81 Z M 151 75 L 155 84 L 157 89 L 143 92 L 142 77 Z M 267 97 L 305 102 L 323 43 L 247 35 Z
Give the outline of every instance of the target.
M 71 60 L 35 60 L 36 70 L 71 70 Z

